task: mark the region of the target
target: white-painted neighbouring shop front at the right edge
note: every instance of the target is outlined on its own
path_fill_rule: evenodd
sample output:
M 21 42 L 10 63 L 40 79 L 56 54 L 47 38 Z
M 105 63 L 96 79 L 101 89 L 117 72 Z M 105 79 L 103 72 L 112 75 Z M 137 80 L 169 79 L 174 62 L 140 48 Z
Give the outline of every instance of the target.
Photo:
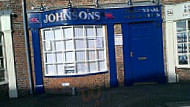
M 170 82 L 189 80 L 190 3 L 165 5 L 166 56 Z

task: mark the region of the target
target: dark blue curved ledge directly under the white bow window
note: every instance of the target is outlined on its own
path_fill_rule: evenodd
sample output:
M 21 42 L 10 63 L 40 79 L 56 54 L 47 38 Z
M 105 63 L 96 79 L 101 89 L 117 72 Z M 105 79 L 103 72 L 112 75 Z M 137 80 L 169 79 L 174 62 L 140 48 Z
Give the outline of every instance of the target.
M 109 73 L 109 71 L 97 72 L 97 73 L 89 73 L 89 74 L 81 74 L 81 75 L 45 76 L 45 77 L 46 77 L 46 78 L 85 77 L 85 76 L 90 76 L 90 75 L 98 75 L 98 74 L 106 74 L 106 73 Z

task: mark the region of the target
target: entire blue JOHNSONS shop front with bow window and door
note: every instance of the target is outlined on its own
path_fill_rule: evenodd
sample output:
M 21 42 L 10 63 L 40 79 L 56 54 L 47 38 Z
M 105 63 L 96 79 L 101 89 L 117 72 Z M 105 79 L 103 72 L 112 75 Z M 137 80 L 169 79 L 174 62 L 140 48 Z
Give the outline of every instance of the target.
M 116 87 L 114 24 L 122 26 L 125 85 L 165 81 L 161 6 L 117 7 L 28 12 L 36 93 Z

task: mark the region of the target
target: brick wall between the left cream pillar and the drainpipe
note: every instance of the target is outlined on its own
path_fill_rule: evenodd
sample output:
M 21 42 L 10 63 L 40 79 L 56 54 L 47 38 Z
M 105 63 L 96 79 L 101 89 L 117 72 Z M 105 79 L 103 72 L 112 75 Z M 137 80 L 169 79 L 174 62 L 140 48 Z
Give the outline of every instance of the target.
M 15 13 L 18 16 L 17 18 L 12 18 L 12 34 L 16 64 L 17 85 L 19 90 L 19 96 L 27 95 L 29 93 L 29 80 L 22 19 L 22 0 L 10 0 L 6 2 L 0 2 L 0 9 L 12 9 L 13 13 Z

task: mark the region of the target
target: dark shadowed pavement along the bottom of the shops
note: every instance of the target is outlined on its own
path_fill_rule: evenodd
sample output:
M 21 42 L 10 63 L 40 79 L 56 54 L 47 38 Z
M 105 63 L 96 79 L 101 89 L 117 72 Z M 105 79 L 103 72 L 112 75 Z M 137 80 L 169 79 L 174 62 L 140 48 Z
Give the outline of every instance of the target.
M 134 85 L 1 99 L 0 107 L 190 107 L 190 83 Z

